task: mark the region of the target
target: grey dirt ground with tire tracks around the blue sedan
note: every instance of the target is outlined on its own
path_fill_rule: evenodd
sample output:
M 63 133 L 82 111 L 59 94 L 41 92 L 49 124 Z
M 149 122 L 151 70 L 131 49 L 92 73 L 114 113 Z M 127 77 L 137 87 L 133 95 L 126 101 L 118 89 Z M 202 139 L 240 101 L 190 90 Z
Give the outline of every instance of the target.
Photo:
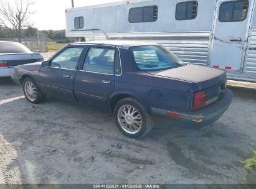
M 256 183 L 239 160 L 256 150 L 256 90 L 234 100 L 211 126 L 157 125 L 123 136 L 110 113 L 54 98 L 31 104 L 0 80 L 0 183 Z

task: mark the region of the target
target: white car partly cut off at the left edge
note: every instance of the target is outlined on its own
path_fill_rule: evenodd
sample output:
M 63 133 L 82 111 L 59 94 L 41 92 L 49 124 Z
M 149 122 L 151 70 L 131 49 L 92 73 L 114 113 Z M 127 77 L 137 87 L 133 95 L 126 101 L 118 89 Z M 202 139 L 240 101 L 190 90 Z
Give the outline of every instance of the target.
M 0 41 L 0 77 L 11 76 L 17 65 L 41 61 L 41 55 L 20 43 Z

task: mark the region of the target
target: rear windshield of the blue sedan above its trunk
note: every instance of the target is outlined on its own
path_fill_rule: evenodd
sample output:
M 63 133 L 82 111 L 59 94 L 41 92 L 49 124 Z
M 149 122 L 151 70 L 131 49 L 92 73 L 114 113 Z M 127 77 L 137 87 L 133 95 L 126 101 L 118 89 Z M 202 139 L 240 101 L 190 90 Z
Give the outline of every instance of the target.
M 130 52 L 140 70 L 162 70 L 186 65 L 161 45 L 130 47 Z

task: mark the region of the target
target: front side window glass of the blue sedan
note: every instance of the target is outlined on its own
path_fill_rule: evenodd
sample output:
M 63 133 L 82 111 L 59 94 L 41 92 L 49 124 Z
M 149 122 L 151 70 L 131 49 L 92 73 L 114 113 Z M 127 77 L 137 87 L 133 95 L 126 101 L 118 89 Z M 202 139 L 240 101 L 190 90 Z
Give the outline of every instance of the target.
M 75 70 L 83 47 L 66 48 L 50 62 L 50 67 Z

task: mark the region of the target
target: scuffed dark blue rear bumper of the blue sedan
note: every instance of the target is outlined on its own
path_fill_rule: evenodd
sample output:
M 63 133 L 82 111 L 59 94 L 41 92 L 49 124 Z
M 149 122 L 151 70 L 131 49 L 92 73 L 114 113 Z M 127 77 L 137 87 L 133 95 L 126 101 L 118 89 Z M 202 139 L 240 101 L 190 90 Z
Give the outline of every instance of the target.
M 206 106 L 205 108 L 195 111 L 176 112 L 156 108 L 151 108 L 151 111 L 155 115 L 161 115 L 168 118 L 174 126 L 199 128 L 217 121 L 217 119 L 225 113 L 227 108 L 229 108 L 232 98 L 232 91 L 226 89 L 222 99 L 219 99 L 216 103 Z M 168 113 L 171 113 L 171 115 L 176 118 L 168 116 Z

